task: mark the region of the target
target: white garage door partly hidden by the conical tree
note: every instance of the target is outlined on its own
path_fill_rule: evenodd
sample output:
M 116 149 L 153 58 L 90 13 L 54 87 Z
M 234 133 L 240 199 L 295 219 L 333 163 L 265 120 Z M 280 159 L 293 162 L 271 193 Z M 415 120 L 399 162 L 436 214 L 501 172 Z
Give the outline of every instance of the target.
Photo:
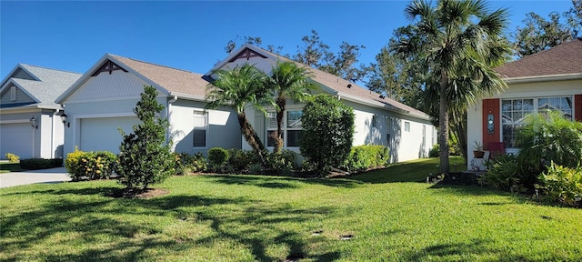
M 139 124 L 136 116 L 101 117 L 81 119 L 81 151 L 110 151 L 119 154 L 122 137 L 118 128 L 126 134 L 133 132 L 132 126 Z

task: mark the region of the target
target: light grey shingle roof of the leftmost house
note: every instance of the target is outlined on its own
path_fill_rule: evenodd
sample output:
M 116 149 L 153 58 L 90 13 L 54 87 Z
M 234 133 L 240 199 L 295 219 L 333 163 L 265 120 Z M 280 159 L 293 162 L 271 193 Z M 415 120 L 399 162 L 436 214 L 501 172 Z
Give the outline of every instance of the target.
M 55 103 L 55 99 L 61 96 L 63 92 L 75 83 L 81 74 L 66 72 L 51 68 L 45 68 L 36 65 L 18 64 L 17 67 L 24 68 L 30 74 L 34 75 L 40 81 L 27 80 L 20 78 L 9 78 L 7 81 L 13 81 L 16 85 L 25 89 L 25 92 L 38 101 L 34 104 L 38 107 L 60 107 Z M 3 83 L 4 85 L 5 83 Z

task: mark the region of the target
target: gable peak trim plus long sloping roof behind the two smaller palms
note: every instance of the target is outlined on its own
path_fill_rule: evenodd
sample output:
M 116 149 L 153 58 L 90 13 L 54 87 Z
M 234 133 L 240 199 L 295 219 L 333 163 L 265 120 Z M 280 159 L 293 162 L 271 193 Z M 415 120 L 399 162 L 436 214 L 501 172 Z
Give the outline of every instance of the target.
M 249 55 L 244 55 L 249 54 Z M 256 54 L 256 55 L 250 55 Z M 293 61 L 285 56 L 276 55 L 271 52 L 268 52 L 262 48 L 259 48 L 255 45 L 245 44 L 241 46 L 236 52 L 232 52 L 231 55 L 228 55 L 224 60 L 216 64 L 206 76 L 211 76 L 213 72 L 218 69 L 221 69 L 228 65 L 228 63 L 235 63 L 238 62 L 239 59 L 246 59 L 247 61 L 250 60 L 252 57 L 261 57 L 264 59 L 272 59 L 273 61 L 289 61 L 296 63 L 296 65 L 308 67 L 309 71 L 311 72 L 311 80 L 316 82 L 324 91 L 327 93 L 340 96 L 342 99 L 351 100 L 358 104 L 363 104 L 367 106 L 376 106 L 379 108 L 383 108 L 386 110 L 394 111 L 397 113 L 405 114 L 408 116 L 415 116 L 421 119 L 429 119 L 429 116 L 426 113 L 417 110 L 414 107 L 406 106 L 402 103 L 399 103 L 395 100 L 387 98 L 386 96 L 381 96 L 375 92 L 370 91 L 369 89 L 358 86 L 356 83 L 349 82 L 339 76 L 335 76 L 329 74 L 325 71 L 310 67 L 308 65 L 304 65 Z M 270 63 L 271 65 L 275 63 Z M 268 63 L 266 63 L 268 64 Z M 268 70 L 268 69 L 267 69 Z M 267 72 L 268 73 L 268 72 Z

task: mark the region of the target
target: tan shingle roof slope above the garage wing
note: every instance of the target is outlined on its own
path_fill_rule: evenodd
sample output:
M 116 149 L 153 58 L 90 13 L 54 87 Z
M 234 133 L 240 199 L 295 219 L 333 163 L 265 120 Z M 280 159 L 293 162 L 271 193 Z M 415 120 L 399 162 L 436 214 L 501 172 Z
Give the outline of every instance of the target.
M 206 85 L 208 82 L 202 78 L 203 75 L 201 74 L 165 65 L 156 65 L 120 55 L 111 56 L 131 67 L 135 72 L 150 79 L 158 86 L 165 88 L 170 93 L 206 96 Z

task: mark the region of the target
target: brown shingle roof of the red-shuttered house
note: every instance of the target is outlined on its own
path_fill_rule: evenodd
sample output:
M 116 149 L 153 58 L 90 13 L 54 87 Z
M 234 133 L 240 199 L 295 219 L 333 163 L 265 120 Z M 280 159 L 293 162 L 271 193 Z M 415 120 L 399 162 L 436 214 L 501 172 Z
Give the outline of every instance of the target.
M 524 56 L 495 70 L 508 78 L 582 74 L 582 39 Z

